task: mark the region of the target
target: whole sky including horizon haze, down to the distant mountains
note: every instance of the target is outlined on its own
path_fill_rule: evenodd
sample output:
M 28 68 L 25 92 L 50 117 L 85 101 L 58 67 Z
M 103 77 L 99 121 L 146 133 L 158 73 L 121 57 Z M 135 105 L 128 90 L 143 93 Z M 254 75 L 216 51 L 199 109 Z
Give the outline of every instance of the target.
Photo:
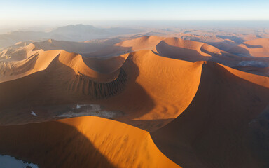
M 269 1 L 1 1 L 0 34 L 96 27 L 269 27 Z

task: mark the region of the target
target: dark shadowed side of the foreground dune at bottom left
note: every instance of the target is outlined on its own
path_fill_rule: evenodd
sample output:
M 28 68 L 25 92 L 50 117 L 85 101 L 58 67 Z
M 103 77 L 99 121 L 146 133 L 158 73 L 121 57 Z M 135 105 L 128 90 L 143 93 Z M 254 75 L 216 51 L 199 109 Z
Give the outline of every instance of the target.
M 114 167 L 76 127 L 64 123 L 2 126 L 0 130 L 1 153 L 31 160 L 39 167 Z

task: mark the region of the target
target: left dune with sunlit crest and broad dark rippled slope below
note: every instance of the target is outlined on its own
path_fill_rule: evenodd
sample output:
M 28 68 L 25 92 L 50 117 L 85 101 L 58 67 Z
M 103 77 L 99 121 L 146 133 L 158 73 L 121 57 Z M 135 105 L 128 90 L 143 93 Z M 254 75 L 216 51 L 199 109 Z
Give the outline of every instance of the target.
M 123 64 L 124 60 L 118 62 Z M 0 83 L 2 124 L 24 123 L 27 118 L 39 121 L 41 118 L 29 116 L 31 111 L 43 117 L 83 111 L 76 108 L 79 102 L 118 94 L 126 81 L 120 69 L 111 66 L 111 73 L 110 69 L 99 73 L 90 69 L 81 55 L 63 50 L 39 50 L 27 59 L 4 65 Z

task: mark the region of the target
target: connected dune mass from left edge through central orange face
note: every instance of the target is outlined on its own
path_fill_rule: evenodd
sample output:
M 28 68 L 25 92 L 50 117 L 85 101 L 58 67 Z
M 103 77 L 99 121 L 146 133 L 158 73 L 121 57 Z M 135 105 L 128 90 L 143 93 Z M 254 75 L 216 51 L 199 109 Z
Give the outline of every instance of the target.
M 77 104 L 88 104 L 89 109 L 92 109 L 90 104 L 99 104 L 102 111 L 115 113 L 116 120 L 154 130 L 179 116 L 191 103 L 202 67 L 202 64 L 160 57 L 151 50 L 105 59 L 82 58 L 63 50 L 39 50 L 30 58 L 34 59 L 33 64 L 29 64 L 31 59 L 26 59 L 12 67 L 18 72 L 24 69 L 24 73 L 3 73 L 2 124 L 17 123 L 18 116 L 29 118 L 31 111 L 41 120 L 48 113 L 57 116 L 85 110 L 76 109 Z M 4 72 L 7 67 L 2 68 Z M 164 80 L 156 83 L 159 76 Z M 20 85 L 25 85 L 24 90 L 20 90 Z M 170 88 L 177 88 L 179 94 Z M 12 119 L 11 113 L 17 114 L 15 118 Z M 32 117 L 28 122 L 33 119 L 36 120 Z

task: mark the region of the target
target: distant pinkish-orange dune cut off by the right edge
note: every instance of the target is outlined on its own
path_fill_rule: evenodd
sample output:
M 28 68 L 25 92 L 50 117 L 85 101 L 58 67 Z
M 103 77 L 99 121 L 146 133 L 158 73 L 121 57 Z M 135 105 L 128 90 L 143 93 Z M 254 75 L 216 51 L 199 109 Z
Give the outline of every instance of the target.
M 231 48 L 229 52 L 251 57 L 269 57 L 269 38 L 259 38 Z

